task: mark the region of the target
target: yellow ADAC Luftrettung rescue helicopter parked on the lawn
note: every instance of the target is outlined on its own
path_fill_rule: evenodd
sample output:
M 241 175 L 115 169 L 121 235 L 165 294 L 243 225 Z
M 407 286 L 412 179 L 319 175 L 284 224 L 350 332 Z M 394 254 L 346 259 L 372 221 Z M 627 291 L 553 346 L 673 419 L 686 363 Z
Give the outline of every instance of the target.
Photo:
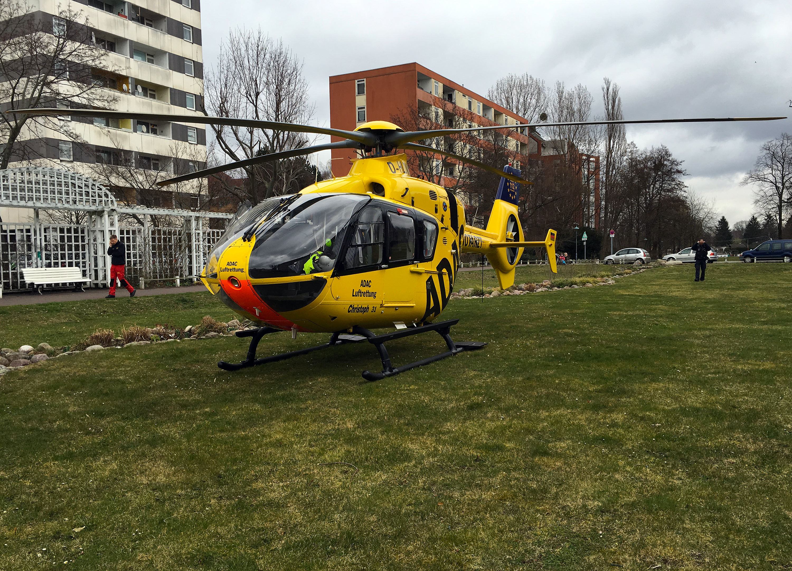
M 14 113 L 59 115 L 63 109 L 25 109 Z M 379 351 L 383 371 L 363 371 L 367 380 L 383 379 L 462 351 L 484 347 L 482 342 L 451 339 L 459 320 L 436 322 L 451 297 L 459 254 L 485 254 L 501 287 L 514 283 L 517 261 L 525 247 L 547 250 L 556 272 L 556 232 L 543 242 L 524 241 L 517 215 L 519 185 L 531 184 L 511 166 L 495 169 L 482 162 L 414 143 L 461 131 L 505 129 L 504 126 L 435 131 L 403 131 L 386 121 L 371 121 L 355 131 L 317 128 L 209 116 L 176 116 L 104 110 L 70 110 L 74 116 L 101 116 L 147 121 L 221 124 L 335 135 L 345 140 L 249 158 L 162 181 L 169 185 L 206 177 L 241 166 L 272 162 L 318 150 L 355 148 L 362 157 L 352 160 L 348 176 L 321 181 L 289 196 L 264 200 L 237 216 L 209 254 L 201 280 L 212 294 L 242 317 L 261 325 L 237 333 L 251 337 L 246 360 L 219 367 L 234 371 L 272 363 L 344 343 L 369 341 Z M 769 120 L 780 117 L 698 120 L 591 121 L 538 124 L 680 123 L 724 120 Z M 509 125 L 524 128 L 532 125 Z M 466 226 L 463 204 L 452 192 L 411 177 L 405 154 L 398 150 L 428 150 L 501 175 L 485 230 Z M 375 334 L 371 329 L 394 329 Z M 261 359 L 256 349 L 268 333 L 291 330 L 331 333 L 325 345 Z M 387 341 L 436 331 L 447 352 L 393 367 Z

